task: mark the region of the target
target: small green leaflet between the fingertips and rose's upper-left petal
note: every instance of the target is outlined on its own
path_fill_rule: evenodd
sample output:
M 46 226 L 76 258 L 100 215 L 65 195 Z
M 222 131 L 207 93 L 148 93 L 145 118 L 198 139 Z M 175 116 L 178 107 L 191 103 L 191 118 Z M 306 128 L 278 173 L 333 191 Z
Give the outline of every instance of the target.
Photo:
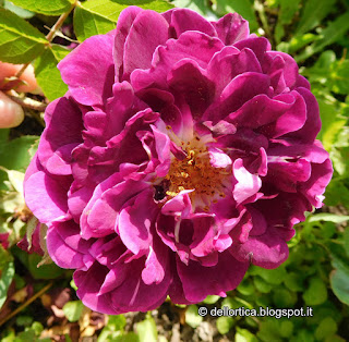
M 68 86 L 62 81 L 61 74 L 57 69 L 58 62 L 68 53 L 69 50 L 52 46 L 52 48 L 46 49 L 35 61 L 36 80 L 50 101 L 63 96 L 68 90 Z

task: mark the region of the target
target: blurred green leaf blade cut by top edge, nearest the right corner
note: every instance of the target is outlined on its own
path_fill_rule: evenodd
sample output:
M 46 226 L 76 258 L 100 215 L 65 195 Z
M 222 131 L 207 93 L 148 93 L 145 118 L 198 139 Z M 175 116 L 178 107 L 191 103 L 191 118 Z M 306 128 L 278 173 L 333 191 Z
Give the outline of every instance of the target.
M 336 0 L 308 0 L 294 35 L 302 35 L 318 24 L 334 10 Z

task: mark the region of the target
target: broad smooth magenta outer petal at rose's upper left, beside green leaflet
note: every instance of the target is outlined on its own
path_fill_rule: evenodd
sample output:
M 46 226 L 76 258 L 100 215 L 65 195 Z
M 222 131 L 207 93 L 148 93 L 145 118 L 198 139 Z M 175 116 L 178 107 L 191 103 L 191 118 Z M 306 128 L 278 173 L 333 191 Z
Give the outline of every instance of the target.
M 82 105 L 103 106 L 111 96 L 113 37 L 109 34 L 87 38 L 58 64 L 72 96 Z

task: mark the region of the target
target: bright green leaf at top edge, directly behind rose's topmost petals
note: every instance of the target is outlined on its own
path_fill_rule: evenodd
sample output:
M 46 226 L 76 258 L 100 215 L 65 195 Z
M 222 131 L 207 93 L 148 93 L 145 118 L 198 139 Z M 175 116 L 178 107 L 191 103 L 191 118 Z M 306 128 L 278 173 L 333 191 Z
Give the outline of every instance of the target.
M 106 34 L 116 28 L 116 23 L 122 10 L 129 5 L 165 12 L 172 4 L 161 0 L 89 0 L 81 3 L 74 11 L 74 32 L 80 41 L 94 35 Z

